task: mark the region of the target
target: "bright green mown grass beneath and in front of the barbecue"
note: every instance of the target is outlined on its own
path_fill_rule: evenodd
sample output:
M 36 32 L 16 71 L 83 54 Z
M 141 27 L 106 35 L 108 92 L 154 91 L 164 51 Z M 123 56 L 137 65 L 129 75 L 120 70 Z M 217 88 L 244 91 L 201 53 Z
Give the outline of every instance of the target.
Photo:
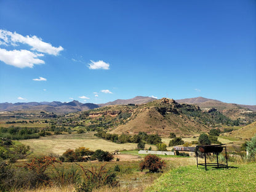
M 255 191 L 256 164 L 230 169 L 179 167 L 162 175 L 145 191 Z

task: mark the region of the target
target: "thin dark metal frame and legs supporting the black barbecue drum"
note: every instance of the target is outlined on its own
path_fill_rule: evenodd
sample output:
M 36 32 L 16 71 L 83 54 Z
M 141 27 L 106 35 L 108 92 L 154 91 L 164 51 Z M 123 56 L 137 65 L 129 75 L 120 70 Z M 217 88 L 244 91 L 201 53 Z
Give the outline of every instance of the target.
M 225 148 L 225 154 L 226 154 L 226 146 L 223 146 L 223 145 L 225 145 L 225 144 L 220 144 L 220 145 L 197 145 L 196 146 L 196 150 L 195 150 L 195 153 L 196 153 L 196 166 L 198 167 L 198 166 L 204 166 L 205 168 L 206 168 L 206 170 L 207 170 L 207 166 L 208 167 L 215 167 L 215 166 L 217 166 L 217 168 L 220 168 L 220 167 L 226 167 L 226 168 L 228 168 L 228 156 L 227 155 L 225 155 L 225 157 L 226 157 L 226 164 L 220 164 L 219 162 L 218 162 L 218 153 L 216 153 L 217 154 L 217 163 L 207 163 L 206 162 L 206 153 L 214 153 L 214 151 L 204 151 L 204 152 L 201 152 L 201 153 L 204 153 L 204 163 L 198 163 L 198 150 L 199 150 L 199 147 L 202 147 L 202 148 L 206 148 L 206 147 L 212 147 L 212 148 L 215 148 L 215 147 L 223 147 L 223 148 Z

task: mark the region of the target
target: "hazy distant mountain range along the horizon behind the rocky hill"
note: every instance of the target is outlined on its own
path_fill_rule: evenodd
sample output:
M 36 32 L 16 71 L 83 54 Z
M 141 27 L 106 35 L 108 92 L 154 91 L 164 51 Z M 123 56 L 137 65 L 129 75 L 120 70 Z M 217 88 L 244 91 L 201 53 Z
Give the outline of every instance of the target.
M 128 104 L 143 104 L 148 103 L 156 98 L 152 97 L 143 97 L 137 96 L 130 99 L 118 99 L 113 102 L 94 104 L 94 103 L 80 103 L 76 100 L 73 102 L 28 102 L 28 103 L 0 103 L 0 111 L 46 111 L 53 113 L 74 113 L 78 111 L 86 111 L 94 108 L 99 108 L 101 106 L 108 105 L 128 105 Z M 176 100 L 178 103 L 187 103 L 198 105 L 203 110 L 207 110 L 207 108 L 216 108 L 217 110 L 221 110 L 225 113 L 225 110 L 234 110 L 239 111 L 256 111 L 256 105 L 239 105 L 234 103 L 223 103 L 218 100 L 213 100 L 204 97 L 196 97 L 196 98 L 185 98 L 181 100 Z

